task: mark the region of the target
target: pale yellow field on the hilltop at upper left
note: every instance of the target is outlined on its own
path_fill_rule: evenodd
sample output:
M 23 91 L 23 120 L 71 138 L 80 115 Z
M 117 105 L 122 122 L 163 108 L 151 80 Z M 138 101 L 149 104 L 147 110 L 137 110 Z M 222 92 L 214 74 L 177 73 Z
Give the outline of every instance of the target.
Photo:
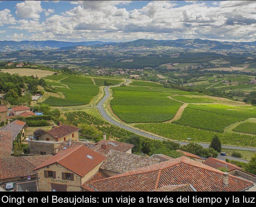
M 52 75 L 54 72 L 48 70 L 38 70 L 38 69 L 31 69 L 31 68 L 13 68 L 13 69 L 2 69 L 2 72 L 8 72 L 11 75 L 18 73 L 21 76 L 27 75 L 34 75 L 38 78 L 42 78 L 48 75 Z

